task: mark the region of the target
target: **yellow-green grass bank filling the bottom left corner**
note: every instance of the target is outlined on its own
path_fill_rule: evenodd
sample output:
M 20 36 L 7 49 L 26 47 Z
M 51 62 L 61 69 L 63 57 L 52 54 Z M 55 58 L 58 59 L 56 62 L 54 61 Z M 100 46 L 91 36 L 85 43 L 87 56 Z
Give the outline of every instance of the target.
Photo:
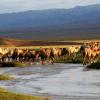
M 8 92 L 3 88 L 0 88 L 0 100 L 50 100 L 50 99 L 47 97 L 12 93 Z

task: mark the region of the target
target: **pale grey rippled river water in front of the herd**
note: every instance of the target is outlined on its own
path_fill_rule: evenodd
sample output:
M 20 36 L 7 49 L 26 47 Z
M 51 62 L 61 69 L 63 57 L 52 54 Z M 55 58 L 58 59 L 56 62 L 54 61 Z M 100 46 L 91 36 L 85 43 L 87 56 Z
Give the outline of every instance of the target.
M 81 64 L 0 68 L 16 79 L 0 81 L 12 92 L 49 96 L 52 100 L 100 100 L 100 71 L 83 71 Z

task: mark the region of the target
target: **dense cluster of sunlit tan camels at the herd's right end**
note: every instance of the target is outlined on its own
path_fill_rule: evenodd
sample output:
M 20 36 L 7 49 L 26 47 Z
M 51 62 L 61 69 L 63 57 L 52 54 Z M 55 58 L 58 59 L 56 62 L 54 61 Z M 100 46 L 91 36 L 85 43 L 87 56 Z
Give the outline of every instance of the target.
M 100 47 L 98 42 L 86 43 L 81 47 L 81 50 L 83 50 L 83 64 L 86 64 L 86 60 L 88 60 L 88 63 L 96 62 L 98 56 L 100 55 Z

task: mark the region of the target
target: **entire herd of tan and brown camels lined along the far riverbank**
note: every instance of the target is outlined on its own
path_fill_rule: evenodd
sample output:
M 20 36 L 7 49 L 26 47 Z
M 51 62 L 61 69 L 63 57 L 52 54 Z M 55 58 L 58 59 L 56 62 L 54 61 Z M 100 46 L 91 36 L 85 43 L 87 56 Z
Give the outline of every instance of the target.
M 100 55 L 100 42 L 88 42 L 81 46 L 70 46 L 66 48 L 39 48 L 39 49 L 22 49 L 22 48 L 0 48 L 0 62 L 7 61 L 31 61 L 41 59 L 42 62 L 50 59 L 51 62 L 57 57 L 65 55 L 74 55 L 77 52 L 84 58 L 83 64 L 94 63 Z

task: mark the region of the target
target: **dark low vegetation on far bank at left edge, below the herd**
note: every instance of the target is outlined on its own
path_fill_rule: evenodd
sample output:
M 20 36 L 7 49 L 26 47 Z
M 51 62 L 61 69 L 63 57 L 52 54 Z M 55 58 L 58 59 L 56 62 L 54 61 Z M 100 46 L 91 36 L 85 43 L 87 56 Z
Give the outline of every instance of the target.
M 0 63 L 0 67 L 25 67 L 26 64 L 21 62 L 3 62 Z

